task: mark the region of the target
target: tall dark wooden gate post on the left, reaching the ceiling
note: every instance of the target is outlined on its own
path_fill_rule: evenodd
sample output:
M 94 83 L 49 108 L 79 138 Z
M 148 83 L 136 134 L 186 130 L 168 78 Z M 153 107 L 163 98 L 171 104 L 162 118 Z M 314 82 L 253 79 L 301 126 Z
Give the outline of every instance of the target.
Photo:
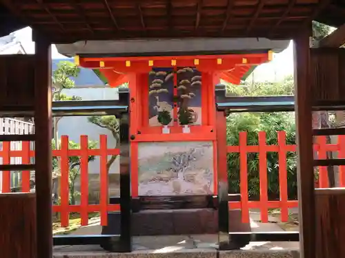
M 37 202 L 37 258 L 52 258 L 52 95 L 51 44 L 35 38 L 35 182 Z

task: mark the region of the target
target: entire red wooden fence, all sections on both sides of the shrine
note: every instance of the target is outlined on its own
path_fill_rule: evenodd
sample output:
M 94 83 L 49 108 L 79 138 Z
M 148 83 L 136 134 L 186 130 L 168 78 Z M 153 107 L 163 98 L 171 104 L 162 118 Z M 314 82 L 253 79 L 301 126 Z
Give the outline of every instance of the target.
M 230 202 L 229 208 L 241 208 L 242 219 L 244 222 L 249 221 L 249 209 L 259 208 L 261 210 L 262 222 L 268 222 L 268 209 L 280 208 L 282 222 L 288 220 L 288 208 L 297 207 L 297 200 L 288 200 L 287 187 L 287 169 L 286 153 L 296 151 L 295 144 L 286 144 L 285 131 L 279 131 L 277 145 L 266 144 L 266 133 L 259 132 L 259 145 L 247 145 L 247 133 L 239 133 L 239 146 L 228 146 L 228 153 L 239 153 L 240 159 L 240 192 L 242 195 L 241 202 Z M 336 144 L 326 144 L 326 137 L 319 136 L 317 143 L 314 144 L 314 150 L 317 151 L 320 159 L 326 158 L 326 151 L 337 151 L 339 158 L 345 158 L 345 136 L 339 136 Z M 268 181 L 267 181 L 267 158 L 268 152 L 277 152 L 279 154 L 279 201 L 268 200 Z M 260 200 L 248 200 L 248 168 L 247 154 L 259 153 L 259 186 Z M 88 136 L 81 136 L 80 149 L 68 149 L 68 136 L 61 137 L 61 149 L 53 151 L 53 156 L 60 157 L 61 160 L 61 204 L 54 205 L 53 211 L 61 214 L 61 226 L 68 226 L 68 215 L 71 212 L 81 214 L 81 225 L 88 225 L 88 213 L 99 212 L 101 215 L 101 225 L 107 224 L 107 212 L 119 211 L 118 204 L 108 204 L 108 175 L 106 163 L 108 155 L 119 154 L 119 149 L 108 149 L 107 138 L 101 135 L 99 138 L 99 149 L 88 149 Z M 99 204 L 88 204 L 88 155 L 100 157 L 100 189 L 101 197 Z M 68 193 L 68 157 L 81 157 L 81 204 L 70 205 Z M 23 142 L 21 151 L 11 151 L 10 143 L 3 142 L 3 148 L 0 151 L 0 157 L 3 158 L 3 164 L 10 164 L 10 157 L 21 157 L 23 164 L 28 164 L 30 158 L 34 157 L 34 151 L 30 150 L 29 142 Z M 30 172 L 23 171 L 22 191 L 30 191 Z M 345 186 L 345 167 L 339 168 L 340 186 Z M 319 187 L 328 187 L 328 178 L 326 167 L 319 168 Z M 10 192 L 10 171 L 2 173 L 2 191 Z

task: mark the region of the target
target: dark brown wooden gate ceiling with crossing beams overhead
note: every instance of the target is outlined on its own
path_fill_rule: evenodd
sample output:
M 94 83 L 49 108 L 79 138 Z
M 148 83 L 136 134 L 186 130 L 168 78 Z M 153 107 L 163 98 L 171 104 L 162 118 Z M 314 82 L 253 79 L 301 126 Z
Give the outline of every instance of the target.
M 345 22 L 345 8 L 340 0 L 0 0 L 0 3 L 18 21 L 37 28 L 53 43 L 190 36 L 290 39 L 319 17 L 333 25 Z M 328 8 L 333 8 L 333 18 Z M 6 14 L 4 10 L 1 12 L 0 8 L 0 21 L 4 20 L 1 17 L 1 13 Z

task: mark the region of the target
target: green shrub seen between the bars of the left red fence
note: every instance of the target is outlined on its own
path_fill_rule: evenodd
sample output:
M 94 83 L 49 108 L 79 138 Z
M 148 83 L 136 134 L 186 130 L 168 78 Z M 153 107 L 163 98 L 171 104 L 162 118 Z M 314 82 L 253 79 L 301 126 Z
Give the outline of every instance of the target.
M 55 140 L 52 140 L 52 149 L 55 149 L 56 144 Z M 97 142 L 89 140 L 88 141 L 88 149 L 96 149 Z M 68 142 L 68 149 L 80 149 L 80 144 L 76 142 L 72 142 L 71 140 Z M 88 162 L 92 162 L 95 160 L 94 155 L 88 156 Z M 80 164 L 81 164 L 81 157 L 79 156 L 70 156 L 68 157 L 68 189 L 69 189 L 69 198 L 70 204 L 75 205 L 75 197 L 77 197 L 80 193 L 75 191 L 75 180 L 77 180 L 78 176 L 80 175 Z M 59 169 L 59 160 L 57 157 L 52 158 L 52 177 L 58 178 L 61 176 L 61 170 Z M 53 199 L 57 199 L 58 197 L 55 196 Z M 56 202 L 57 200 L 55 200 Z

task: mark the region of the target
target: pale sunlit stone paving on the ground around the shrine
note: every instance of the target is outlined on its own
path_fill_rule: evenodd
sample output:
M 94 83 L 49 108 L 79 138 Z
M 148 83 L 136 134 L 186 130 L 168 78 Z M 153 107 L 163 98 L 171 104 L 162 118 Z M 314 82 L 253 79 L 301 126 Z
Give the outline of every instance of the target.
M 292 210 L 292 215 L 290 216 L 290 222 L 288 223 L 279 223 L 279 217 L 277 213 L 273 211 L 269 215 L 269 222 L 268 223 L 261 223 L 259 222 L 260 214 L 259 211 L 251 211 L 250 212 L 250 224 L 252 230 L 254 232 L 262 232 L 262 231 L 282 231 L 282 230 L 298 230 L 298 225 L 293 219 L 295 217 L 295 211 Z M 65 232 L 71 235 L 93 235 L 93 234 L 100 234 L 101 233 L 101 226 L 99 225 L 99 216 L 94 214 L 94 217 L 90 218 L 89 226 L 78 226 L 71 224 L 70 228 Z M 78 219 L 72 220 L 72 222 L 77 222 Z M 73 228 L 73 230 L 71 230 Z M 55 229 L 57 230 L 57 229 Z M 59 231 L 61 233 L 61 231 Z M 197 248 L 193 249 L 195 252 L 199 252 L 201 250 L 206 250 L 206 252 L 210 252 L 210 250 L 215 251 L 215 243 L 217 242 L 217 235 L 192 235 L 193 239 L 195 239 Z M 135 248 L 136 252 L 145 252 L 146 255 L 150 254 L 161 254 L 161 253 L 171 253 L 171 252 L 185 252 L 192 248 L 191 241 L 188 241 L 188 237 L 186 236 L 157 236 L 157 237 L 133 237 L 133 247 Z M 262 256 L 257 255 L 247 255 L 245 257 L 255 257 L 255 258 L 268 258 L 268 257 L 298 257 L 295 256 L 295 252 L 291 252 L 291 250 L 298 250 L 299 243 L 298 242 L 251 242 L 243 248 L 243 250 L 247 252 L 257 253 L 259 251 L 262 253 Z M 270 250 L 279 251 L 278 256 L 277 254 L 273 255 Z M 195 252 L 193 252 L 195 254 Z M 203 251 L 204 252 L 204 251 Z M 66 255 L 67 254 L 67 255 Z M 73 256 L 73 255 L 79 256 Z M 96 256 L 92 256 L 95 255 Z M 55 257 L 56 258 L 68 258 L 68 257 L 88 257 L 88 258 L 98 258 L 103 257 L 101 255 L 105 254 L 105 252 L 99 246 L 57 246 L 55 247 Z M 117 254 L 119 255 L 119 254 Z M 117 256 L 115 255 L 115 256 Z M 242 253 L 243 255 L 243 253 Z M 240 258 L 244 257 L 239 255 L 235 252 L 232 252 L 232 255 L 229 257 L 224 258 Z M 107 258 L 115 257 L 110 254 L 104 256 Z M 199 255 L 197 255 L 199 257 Z M 203 256 L 204 257 L 204 256 Z M 148 258 L 148 257 L 146 257 Z M 160 258 L 160 257 L 159 257 Z M 197 258 L 197 257 L 195 257 Z M 216 257 L 215 257 L 216 258 Z

